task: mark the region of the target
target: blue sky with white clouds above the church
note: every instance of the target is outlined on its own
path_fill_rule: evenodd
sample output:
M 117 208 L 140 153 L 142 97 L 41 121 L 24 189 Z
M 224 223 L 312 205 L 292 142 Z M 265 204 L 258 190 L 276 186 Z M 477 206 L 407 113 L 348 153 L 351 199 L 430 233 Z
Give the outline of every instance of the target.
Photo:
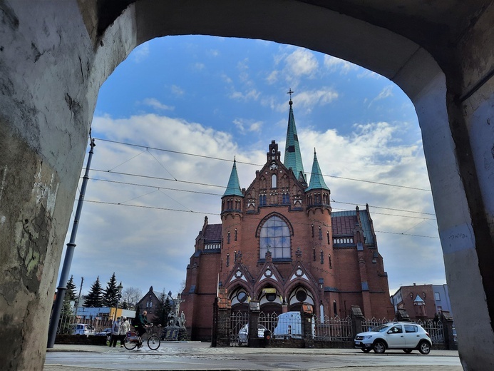
M 175 297 L 205 216 L 220 223 L 234 158 L 247 188 L 272 140 L 284 156 L 289 89 L 304 171 L 315 148 L 333 210 L 369 204 L 390 294 L 446 283 L 418 119 L 396 84 L 295 46 L 167 36 L 134 49 L 98 94 L 77 288 L 115 273 L 124 290 Z

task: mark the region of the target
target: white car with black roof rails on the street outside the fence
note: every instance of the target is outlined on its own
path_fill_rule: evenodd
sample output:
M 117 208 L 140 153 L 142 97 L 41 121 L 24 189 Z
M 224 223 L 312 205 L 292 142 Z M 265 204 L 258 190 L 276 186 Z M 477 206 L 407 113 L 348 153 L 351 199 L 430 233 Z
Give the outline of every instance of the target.
M 432 341 L 421 325 L 413 322 L 388 322 L 371 331 L 357 334 L 354 345 L 366 353 L 371 350 L 384 353 L 386 349 L 401 349 L 406 353 L 418 350 L 423 355 L 428 355 Z

